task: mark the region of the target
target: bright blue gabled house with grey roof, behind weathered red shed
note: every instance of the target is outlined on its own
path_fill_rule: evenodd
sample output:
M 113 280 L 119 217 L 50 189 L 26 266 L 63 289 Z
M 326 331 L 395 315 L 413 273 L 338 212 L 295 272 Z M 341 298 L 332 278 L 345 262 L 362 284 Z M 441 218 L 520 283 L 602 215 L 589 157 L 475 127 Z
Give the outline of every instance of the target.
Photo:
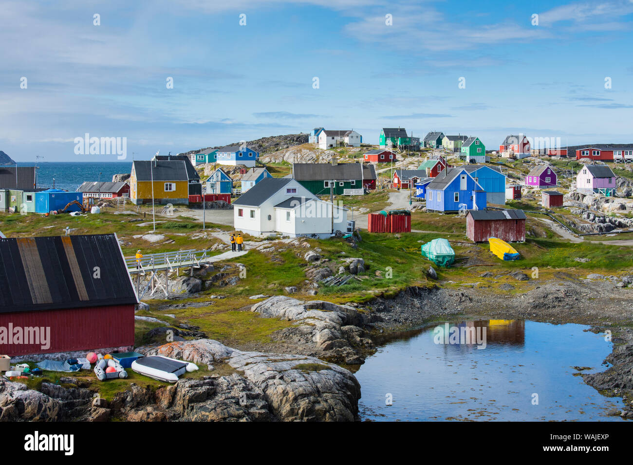
M 427 210 L 459 211 L 486 208 L 486 191 L 464 168 L 447 168 L 427 185 Z

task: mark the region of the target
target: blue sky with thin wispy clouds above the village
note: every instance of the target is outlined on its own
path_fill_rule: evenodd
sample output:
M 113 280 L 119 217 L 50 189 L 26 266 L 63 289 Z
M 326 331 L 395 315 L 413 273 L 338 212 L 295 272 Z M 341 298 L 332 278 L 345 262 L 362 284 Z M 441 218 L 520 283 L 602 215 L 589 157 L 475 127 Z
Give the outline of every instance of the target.
M 2 18 L 17 161 L 116 161 L 76 155 L 85 133 L 135 159 L 321 126 L 633 142 L 633 0 L 9 0 Z

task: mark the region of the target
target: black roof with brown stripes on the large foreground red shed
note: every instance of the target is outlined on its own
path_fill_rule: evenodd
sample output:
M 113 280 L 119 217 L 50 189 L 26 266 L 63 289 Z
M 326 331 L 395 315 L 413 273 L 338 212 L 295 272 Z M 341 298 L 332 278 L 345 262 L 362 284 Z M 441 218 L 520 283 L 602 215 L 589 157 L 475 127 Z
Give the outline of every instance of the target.
M 137 303 L 114 234 L 0 239 L 0 288 L 0 313 Z

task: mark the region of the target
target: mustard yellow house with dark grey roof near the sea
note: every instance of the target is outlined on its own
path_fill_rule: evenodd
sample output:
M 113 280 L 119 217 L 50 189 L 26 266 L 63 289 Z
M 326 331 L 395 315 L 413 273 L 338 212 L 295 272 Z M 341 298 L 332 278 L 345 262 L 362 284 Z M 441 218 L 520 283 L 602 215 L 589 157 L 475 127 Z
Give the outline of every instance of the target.
M 134 161 L 129 182 L 134 204 L 189 204 L 189 177 L 184 161 Z

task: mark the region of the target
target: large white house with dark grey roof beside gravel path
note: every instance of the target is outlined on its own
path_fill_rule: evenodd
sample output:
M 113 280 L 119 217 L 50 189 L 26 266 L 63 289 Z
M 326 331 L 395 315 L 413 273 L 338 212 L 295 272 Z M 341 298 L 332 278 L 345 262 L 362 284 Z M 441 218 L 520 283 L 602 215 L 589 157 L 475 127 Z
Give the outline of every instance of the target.
M 254 236 L 278 232 L 326 238 L 347 230 L 347 209 L 322 201 L 292 178 L 265 178 L 233 206 L 235 230 Z

